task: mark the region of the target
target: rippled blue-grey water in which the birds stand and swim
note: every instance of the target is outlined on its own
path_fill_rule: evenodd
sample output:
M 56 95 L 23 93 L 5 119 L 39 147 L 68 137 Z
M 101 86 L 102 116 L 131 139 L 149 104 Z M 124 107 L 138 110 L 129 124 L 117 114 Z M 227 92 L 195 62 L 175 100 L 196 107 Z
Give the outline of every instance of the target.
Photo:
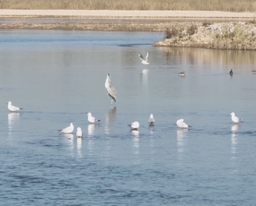
M 1 30 L 1 205 L 255 204 L 255 52 L 151 47 L 162 36 Z M 83 139 L 57 132 L 70 122 Z

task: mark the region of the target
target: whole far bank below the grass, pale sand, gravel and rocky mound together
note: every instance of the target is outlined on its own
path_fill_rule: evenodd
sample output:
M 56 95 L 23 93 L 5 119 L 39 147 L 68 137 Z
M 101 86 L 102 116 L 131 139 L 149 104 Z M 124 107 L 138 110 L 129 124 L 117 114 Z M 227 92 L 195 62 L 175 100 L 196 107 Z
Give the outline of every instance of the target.
M 165 32 L 158 47 L 255 50 L 255 18 L 206 11 L 0 10 L 0 29 L 154 31 Z

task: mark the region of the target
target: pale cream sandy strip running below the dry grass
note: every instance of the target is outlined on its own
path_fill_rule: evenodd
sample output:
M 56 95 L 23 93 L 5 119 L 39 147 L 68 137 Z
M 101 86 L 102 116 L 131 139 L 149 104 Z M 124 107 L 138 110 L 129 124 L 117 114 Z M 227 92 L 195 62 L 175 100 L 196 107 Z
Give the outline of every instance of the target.
M 120 10 L 0 10 L 0 17 L 75 17 L 75 18 L 181 18 L 181 19 L 253 19 L 256 13 L 218 11 L 120 11 Z

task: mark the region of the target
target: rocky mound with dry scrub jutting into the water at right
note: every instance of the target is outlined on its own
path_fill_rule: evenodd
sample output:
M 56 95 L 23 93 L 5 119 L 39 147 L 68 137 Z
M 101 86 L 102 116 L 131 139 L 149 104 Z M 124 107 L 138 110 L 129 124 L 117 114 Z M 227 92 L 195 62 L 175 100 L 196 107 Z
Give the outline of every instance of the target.
M 256 49 L 256 24 L 249 22 L 186 23 L 167 28 L 157 47 Z

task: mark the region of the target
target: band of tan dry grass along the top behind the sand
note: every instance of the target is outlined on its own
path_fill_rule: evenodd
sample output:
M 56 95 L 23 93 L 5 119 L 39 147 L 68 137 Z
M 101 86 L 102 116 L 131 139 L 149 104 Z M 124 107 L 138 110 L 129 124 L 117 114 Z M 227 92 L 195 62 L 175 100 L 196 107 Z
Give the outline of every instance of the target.
M 0 0 L 0 9 L 201 10 L 256 12 L 255 0 Z

